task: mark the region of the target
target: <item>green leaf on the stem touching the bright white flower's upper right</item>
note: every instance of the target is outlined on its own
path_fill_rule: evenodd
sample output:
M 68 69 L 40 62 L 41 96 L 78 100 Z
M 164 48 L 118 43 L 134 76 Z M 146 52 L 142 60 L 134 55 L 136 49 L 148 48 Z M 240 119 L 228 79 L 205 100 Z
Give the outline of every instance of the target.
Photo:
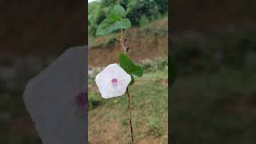
M 123 70 L 128 74 L 134 74 L 137 77 L 142 77 L 143 70 L 141 66 L 137 66 L 126 56 L 126 54 L 119 54 L 119 63 Z

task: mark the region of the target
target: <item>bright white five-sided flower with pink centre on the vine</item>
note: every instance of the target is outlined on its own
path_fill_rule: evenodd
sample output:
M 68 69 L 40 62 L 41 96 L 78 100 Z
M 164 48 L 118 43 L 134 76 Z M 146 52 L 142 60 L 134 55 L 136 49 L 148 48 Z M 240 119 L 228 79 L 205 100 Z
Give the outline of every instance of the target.
M 126 93 L 131 78 L 118 64 L 106 66 L 95 78 L 102 98 L 118 97 Z

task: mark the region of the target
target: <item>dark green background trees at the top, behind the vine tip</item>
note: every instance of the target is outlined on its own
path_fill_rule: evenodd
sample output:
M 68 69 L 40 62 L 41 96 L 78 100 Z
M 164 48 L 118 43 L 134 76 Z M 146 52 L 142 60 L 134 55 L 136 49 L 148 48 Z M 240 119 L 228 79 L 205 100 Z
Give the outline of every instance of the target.
M 110 14 L 110 11 L 118 2 L 116 0 L 102 0 L 90 2 L 88 10 L 88 35 L 94 38 L 98 24 Z M 120 5 L 126 9 L 126 18 L 130 19 L 133 26 L 140 26 L 140 22 L 148 22 L 162 18 L 168 13 L 167 0 L 120 0 Z M 144 20 L 141 21 L 144 16 Z

